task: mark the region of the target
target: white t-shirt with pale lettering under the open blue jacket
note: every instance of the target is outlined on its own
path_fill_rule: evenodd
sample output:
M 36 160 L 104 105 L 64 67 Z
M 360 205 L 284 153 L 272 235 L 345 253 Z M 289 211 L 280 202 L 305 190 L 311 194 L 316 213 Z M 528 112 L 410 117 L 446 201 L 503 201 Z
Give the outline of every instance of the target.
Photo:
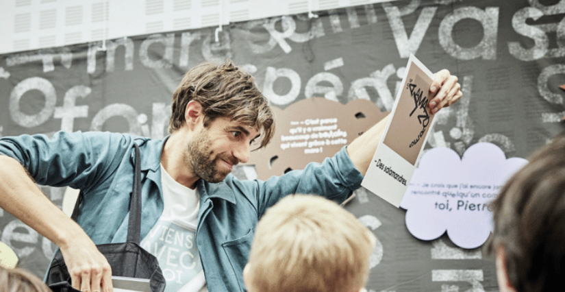
M 141 241 L 157 257 L 166 280 L 165 292 L 208 292 L 196 244 L 200 197 L 179 184 L 161 165 L 163 214 Z

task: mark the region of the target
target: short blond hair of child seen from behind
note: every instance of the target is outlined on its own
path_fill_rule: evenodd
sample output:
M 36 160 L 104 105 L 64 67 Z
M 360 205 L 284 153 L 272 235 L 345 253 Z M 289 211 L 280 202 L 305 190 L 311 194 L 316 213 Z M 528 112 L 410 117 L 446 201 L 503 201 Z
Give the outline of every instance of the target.
M 357 292 L 368 278 L 375 240 L 338 204 L 314 195 L 287 196 L 257 225 L 249 285 L 253 292 Z

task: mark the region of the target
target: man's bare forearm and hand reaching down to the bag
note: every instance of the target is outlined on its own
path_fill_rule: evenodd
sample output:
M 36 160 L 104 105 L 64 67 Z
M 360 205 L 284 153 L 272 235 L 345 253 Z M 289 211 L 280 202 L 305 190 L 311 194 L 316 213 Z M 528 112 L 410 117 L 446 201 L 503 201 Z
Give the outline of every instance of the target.
M 98 252 L 84 230 L 40 191 L 20 162 L 0 155 L 0 165 L 0 208 L 60 248 L 73 288 L 113 291 L 108 260 Z M 101 287 L 101 283 L 108 285 Z

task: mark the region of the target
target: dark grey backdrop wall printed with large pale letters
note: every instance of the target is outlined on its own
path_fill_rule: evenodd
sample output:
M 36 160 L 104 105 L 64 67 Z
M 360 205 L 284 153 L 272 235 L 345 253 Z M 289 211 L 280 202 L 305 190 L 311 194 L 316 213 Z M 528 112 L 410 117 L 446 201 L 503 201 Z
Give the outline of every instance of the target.
M 0 135 L 108 130 L 162 138 L 171 93 L 195 64 L 231 58 L 255 75 L 273 106 L 310 97 L 392 108 L 414 53 L 460 77 L 464 97 L 442 110 L 427 148 L 462 155 L 479 141 L 527 158 L 563 130 L 565 1 L 394 1 L 135 36 L 0 56 Z M 399 77 L 400 76 L 400 77 Z M 240 178 L 253 169 L 239 167 Z M 63 188 L 41 187 L 60 205 Z M 363 188 L 346 208 L 379 242 L 371 291 L 497 290 L 492 260 L 444 236 L 420 241 L 405 211 Z M 0 240 L 42 276 L 54 246 L 0 210 Z

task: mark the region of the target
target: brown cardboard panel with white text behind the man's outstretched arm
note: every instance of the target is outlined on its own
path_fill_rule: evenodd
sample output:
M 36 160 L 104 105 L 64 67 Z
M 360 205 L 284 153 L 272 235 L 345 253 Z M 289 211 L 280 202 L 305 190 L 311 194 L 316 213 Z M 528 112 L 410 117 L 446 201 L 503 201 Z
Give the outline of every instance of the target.
M 322 162 L 386 117 L 373 102 L 355 99 L 340 104 L 322 97 L 303 99 L 275 113 L 275 136 L 251 155 L 258 178 L 266 180 L 310 162 Z

